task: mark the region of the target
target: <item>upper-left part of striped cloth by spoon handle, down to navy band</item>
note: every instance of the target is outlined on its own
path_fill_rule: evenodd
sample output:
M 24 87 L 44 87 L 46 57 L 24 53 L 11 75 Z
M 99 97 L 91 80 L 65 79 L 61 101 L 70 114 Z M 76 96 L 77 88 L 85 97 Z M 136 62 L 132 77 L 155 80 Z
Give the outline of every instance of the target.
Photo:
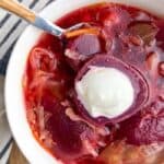
M 38 12 L 45 5 L 54 0 L 19 0 L 24 5 Z M 0 73 L 5 74 L 7 63 L 11 55 L 12 48 L 20 34 L 27 26 L 16 15 L 0 9 Z

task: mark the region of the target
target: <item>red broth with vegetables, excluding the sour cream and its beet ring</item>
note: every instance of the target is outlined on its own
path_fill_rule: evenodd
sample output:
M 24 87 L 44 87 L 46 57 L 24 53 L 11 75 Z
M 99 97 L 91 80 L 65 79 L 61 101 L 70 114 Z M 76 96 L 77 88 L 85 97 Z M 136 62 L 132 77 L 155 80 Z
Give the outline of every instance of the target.
M 56 23 L 69 27 L 79 22 L 98 27 L 101 36 L 83 35 L 61 43 L 44 34 L 28 55 L 23 89 L 35 139 L 65 164 L 161 164 L 164 162 L 164 20 L 140 9 L 101 3 L 73 11 Z M 82 39 L 86 44 L 80 45 Z M 67 50 L 75 51 L 75 58 L 67 56 Z M 72 98 L 74 80 L 83 65 L 97 54 L 134 67 L 147 80 L 148 101 L 130 118 L 98 125 L 79 113 Z

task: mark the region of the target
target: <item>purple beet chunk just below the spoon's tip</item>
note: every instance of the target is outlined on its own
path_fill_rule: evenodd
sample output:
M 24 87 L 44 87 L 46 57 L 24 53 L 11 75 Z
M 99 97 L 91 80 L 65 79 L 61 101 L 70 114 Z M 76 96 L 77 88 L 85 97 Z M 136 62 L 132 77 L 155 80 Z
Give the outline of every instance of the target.
M 101 51 L 101 38 L 97 35 L 84 34 L 68 42 L 65 56 L 70 66 L 78 69 L 82 62 Z

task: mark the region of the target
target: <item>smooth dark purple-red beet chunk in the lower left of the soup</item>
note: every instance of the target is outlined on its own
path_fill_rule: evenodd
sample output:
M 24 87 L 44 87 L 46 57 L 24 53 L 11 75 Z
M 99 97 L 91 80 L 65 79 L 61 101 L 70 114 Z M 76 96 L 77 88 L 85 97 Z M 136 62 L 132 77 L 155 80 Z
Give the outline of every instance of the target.
M 44 97 L 43 106 L 46 112 L 51 114 L 46 124 L 46 129 L 52 134 L 59 150 L 69 154 L 80 153 L 82 150 L 80 134 L 89 127 L 83 122 L 72 121 L 66 115 L 66 108 L 50 96 Z

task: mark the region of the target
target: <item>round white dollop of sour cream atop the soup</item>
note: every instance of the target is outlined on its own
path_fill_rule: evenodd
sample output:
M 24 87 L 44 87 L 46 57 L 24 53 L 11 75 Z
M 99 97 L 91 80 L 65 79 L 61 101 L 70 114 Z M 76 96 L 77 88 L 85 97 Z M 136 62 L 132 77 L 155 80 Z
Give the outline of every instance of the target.
M 134 90 L 127 74 L 115 68 L 91 67 L 75 83 L 78 99 L 92 117 L 115 118 L 133 103 Z

